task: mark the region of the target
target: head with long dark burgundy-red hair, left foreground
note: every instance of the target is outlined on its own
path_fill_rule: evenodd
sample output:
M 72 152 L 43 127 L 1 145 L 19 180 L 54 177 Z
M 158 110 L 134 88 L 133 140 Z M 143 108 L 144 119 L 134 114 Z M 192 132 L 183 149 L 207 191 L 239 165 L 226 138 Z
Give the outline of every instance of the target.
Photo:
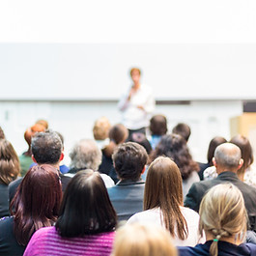
M 36 230 L 53 225 L 61 197 L 59 173 L 54 167 L 35 165 L 26 173 L 11 203 L 17 242 L 26 245 Z

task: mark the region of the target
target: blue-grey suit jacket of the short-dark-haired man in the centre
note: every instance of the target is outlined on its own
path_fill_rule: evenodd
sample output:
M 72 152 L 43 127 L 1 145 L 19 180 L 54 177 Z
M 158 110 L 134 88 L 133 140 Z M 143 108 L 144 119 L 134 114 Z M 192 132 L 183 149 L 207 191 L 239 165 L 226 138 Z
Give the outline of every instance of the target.
M 107 188 L 109 198 L 117 212 L 118 220 L 128 220 L 134 213 L 143 211 L 145 182 L 121 181 Z

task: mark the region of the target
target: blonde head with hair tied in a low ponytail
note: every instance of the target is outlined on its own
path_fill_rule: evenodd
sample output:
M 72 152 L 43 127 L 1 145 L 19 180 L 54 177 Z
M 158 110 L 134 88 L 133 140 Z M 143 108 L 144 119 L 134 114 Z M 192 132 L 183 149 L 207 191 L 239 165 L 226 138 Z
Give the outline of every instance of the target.
M 213 186 L 204 196 L 200 205 L 200 231 L 212 235 L 210 248 L 212 256 L 217 254 L 217 242 L 232 236 L 243 241 L 246 232 L 247 213 L 242 192 L 236 185 Z

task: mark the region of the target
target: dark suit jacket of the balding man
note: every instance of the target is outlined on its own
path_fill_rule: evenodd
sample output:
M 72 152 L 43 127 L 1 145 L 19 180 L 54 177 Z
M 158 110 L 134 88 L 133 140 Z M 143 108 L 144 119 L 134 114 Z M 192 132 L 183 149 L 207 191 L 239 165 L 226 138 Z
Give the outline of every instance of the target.
M 256 226 L 256 188 L 242 183 L 238 176 L 233 172 L 223 172 L 213 180 L 193 184 L 186 194 L 185 207 L 189 207 L 190 209 L 199 212 L 201 200 L 207 190 L 213 187 L 213 185 L 223 183 L 232 183 L 233 185 L 237 185 L 239 187 L 243 195 L 245 208 L 250 218 L 251 225 Z M 253 218 L 254 220 L 251 220 Z M 255 229 L 255 227 L 252 227 L 252 229 Z

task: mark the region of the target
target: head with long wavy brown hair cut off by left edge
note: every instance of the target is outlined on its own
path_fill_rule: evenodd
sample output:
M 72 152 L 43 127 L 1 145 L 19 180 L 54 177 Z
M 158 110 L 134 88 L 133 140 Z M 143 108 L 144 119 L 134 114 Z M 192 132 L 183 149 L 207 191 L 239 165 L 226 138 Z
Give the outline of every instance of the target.
M 0 184 L 9 185 L 20 172 L 14 147 L 6 139 L 0 139 Z

